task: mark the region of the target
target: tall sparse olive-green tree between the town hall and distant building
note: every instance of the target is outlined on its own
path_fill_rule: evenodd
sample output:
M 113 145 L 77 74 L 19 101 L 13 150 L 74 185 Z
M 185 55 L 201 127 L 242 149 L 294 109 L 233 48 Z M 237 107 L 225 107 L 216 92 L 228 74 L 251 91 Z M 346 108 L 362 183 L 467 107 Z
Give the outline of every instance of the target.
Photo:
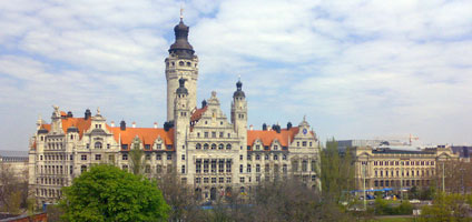
M 336 140 L 326 141 L 321 151 L 322 192 L 325 199 L 338 201 L 341 193 L 353 189 L 354 164 L 350 149 L 340 152 Z

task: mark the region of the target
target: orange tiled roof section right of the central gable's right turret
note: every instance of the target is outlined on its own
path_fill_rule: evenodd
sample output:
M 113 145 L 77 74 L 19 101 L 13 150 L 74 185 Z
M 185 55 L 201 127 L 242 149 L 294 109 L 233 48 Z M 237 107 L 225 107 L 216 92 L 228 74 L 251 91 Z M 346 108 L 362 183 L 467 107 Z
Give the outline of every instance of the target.
M 264 147 L 269 147 L 272 142 L 277 139 L 282 147 L 288 147 L 288 140 L 293 141 L 295 134 L 298 133 L 298 128 L 291 128 L 289 130 L 283 129 L 281 133 L 275 130 L 248 130 L 247 131 L 247 145 L 253 145 L 258 139 L 263 142 Z

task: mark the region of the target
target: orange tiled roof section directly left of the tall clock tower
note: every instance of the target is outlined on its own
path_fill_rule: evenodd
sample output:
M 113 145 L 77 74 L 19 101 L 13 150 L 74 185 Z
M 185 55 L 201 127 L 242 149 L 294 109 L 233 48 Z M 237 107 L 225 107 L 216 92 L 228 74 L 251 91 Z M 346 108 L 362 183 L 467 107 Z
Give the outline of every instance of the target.
M 121 130 L 119 127 L 108 127 L 107 129 L 114 133 L 115 140 L 118 142 L 121 138 L 121 144 L 131 144 L 132 140 L 138 137 L 144 144 L 153 144 L 160 135 L 160 139 L 166 145 L 174 145 L 174 129 L 165 131 L 164 129 L 155 128 L 126 128 Z

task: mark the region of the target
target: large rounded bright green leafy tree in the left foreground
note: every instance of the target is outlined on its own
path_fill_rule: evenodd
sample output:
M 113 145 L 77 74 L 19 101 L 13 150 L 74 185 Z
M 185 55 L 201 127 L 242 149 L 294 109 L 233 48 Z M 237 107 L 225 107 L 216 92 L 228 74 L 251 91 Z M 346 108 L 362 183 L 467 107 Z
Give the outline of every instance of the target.
M 165 221 L 169 206 L 155 182 L 112 165 L 95 165 L 62 188 L 67 221 Z

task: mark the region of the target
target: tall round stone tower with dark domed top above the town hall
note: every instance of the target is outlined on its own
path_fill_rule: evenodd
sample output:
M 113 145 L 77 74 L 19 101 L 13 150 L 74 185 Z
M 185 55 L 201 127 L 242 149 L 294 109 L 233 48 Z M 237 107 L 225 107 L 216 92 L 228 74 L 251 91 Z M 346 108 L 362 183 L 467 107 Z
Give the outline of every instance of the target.
M 180 78 L 187 81 L 188 108 L 191 111 L 197 107 L 198 57 L 188 42 L 188 30 L 189 28 L 184 24 L 180 11 L 180 22 L 174 28 L 176 40 L 170 46 L 169 57 L 165 60 L 167 79 L 167 121 L 175 120 L 174 100 Z

